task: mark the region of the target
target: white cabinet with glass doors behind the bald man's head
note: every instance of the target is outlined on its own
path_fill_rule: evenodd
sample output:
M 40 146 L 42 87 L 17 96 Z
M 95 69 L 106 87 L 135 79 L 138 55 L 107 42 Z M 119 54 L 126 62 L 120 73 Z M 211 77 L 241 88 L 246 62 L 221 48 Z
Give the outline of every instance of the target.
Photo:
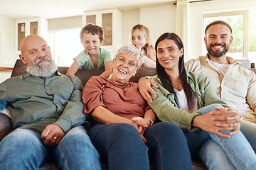
M 26 18 L 15 21 L 15 50 L 20 53 L 20 43 L 27 35 L 40 35 L 48 42 L 48 21 L 44 18 Z

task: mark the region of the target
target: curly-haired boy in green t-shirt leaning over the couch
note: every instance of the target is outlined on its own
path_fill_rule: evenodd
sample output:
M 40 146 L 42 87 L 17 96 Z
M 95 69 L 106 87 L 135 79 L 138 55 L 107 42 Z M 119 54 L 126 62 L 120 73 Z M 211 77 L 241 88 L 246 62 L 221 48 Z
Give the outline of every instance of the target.
M 109 51 L 100 47 L 104 42 L 103 29 L 87 24 L 80 31 L 80 39 L 85 50 L 75 57 L 67 75 L 75 76 L 78 69 L 105 69 L 100 76 L 106 79 L 112 74 L 112 60 Z

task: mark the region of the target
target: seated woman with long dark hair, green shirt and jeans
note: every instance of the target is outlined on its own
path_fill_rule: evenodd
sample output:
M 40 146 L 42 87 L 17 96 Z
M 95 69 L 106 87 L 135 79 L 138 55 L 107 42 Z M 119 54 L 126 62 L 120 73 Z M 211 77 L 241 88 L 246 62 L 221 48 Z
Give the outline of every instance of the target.
M 206 77 L 186 72 L 183 64 L 178 35 L 161 35 L 156 40 L 157 76 L 153 78 L 159 88 L 154 88 L 157 96 L 149 106 L 161 121 L 176 123 L 183 130 L 191 156 L 199 154 L 208 169 L 255 169 L 256 155 L 239 131 L 239 114 L 216 96 Z

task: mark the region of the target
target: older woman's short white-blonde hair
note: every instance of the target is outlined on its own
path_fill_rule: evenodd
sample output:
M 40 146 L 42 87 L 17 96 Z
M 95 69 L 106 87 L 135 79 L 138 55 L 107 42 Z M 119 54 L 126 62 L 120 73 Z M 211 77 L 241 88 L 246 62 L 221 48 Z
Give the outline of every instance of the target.
M 118 51 L 117 54 L 114 55 L 114 59 L 115 60 L 117 58 L 118 55 L 120 54 L 124 54 L 130 52 L 132 53 L 132 55 L 134 55 L 137 58 L 137 69 L 139 69 L 140 67 L 142 67 L 143 64 L 143 54 L 142 52 L 140 52 L 137 47 L 133 46 L 133 45 L 124 45 L 123 47 L 121 47 Z

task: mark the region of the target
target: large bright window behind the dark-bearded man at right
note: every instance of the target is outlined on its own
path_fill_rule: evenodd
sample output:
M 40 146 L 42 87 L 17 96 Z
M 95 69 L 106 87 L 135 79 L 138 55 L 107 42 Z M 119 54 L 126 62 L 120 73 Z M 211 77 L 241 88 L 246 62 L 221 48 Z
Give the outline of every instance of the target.
M 221 13 L 204 13 L 203 30 L 212 21 L 222 20 L 232 28 L 233 42 L 228 56 L 234 59 L 248 59 L 256 62 L 256 10 L 229 11 Z M 206 47 L 203 53 L 206 54 Z

